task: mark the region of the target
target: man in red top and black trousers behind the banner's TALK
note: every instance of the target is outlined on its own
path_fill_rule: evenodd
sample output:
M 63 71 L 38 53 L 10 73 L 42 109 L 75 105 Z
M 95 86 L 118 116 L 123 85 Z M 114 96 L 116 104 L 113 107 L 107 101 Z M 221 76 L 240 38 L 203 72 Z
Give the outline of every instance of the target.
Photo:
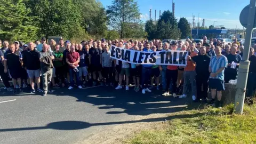
M 172 43 L 172 51 L 176 51 L 177 50 L 177 43 Z M 169 93 L 169 85 L 171 83 L 172 80 L 172 92 L 173 92 L 173 98 L 176 98 L 176 92 L 177 92 L 177 86 L 176 86 L 176 82 L 177 82 L 177 78 L 178 78 L 178 66 L 167 66 L 166 68 L 166 82 L 167 82 L 167 86 L 165 88 L 165 92 L 163 93 L 164 96 L 170 95 Z

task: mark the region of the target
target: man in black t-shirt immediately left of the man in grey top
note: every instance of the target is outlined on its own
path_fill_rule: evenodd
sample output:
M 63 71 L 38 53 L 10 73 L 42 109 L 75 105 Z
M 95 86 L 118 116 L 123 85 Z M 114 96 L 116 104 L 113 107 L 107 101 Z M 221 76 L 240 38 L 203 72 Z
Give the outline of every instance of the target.
M 101 54 L 102 51 L 99 47 L 97 47 L 97 42 L 94 41 L 92 43 L 93 47 L 89 50 L 89 62 L 90 62 L 90 70 L 93 76 L 93 86 L 97 85 L 97 77 L 96 73 L 99 73 L 100 81 L 102 81 L 101 75 Z M 101 84 L 103 84 L 101 82 Z

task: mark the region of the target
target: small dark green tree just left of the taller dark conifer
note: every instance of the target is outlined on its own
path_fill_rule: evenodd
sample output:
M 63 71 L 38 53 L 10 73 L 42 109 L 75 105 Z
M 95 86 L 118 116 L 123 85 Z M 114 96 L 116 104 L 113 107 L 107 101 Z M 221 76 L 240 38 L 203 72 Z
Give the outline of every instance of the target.
M 145 24 L 145 31 L 147 32 L 148 39 L 154 39 L 156 37 L 157 23 L 152 19 L 147 20 Z

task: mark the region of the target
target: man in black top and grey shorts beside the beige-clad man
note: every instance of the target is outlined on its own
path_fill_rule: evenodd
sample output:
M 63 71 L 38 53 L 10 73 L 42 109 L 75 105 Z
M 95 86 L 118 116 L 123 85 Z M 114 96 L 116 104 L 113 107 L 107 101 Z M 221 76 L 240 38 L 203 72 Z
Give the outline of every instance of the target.
M 40 61 L 39 52 L 35 49 L 33 42 L 28 45 L 29 49 L 23 52 L 23 67 L 27 70 L 29 83 L 31 85 L 31 93 L 35 92 L 34 79 L 37 84 L 37 91 L 43 92 L 40 89 Z

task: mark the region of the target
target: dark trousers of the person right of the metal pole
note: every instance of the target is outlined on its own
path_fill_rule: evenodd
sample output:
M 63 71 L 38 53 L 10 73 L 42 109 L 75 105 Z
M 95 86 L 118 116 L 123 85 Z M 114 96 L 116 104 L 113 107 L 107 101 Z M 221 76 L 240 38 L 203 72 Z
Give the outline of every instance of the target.
M 249 73 L 248 80 L 247 80 L 247 97 L 254 97 L 254 90 L 256 87 L 256 74 Z

